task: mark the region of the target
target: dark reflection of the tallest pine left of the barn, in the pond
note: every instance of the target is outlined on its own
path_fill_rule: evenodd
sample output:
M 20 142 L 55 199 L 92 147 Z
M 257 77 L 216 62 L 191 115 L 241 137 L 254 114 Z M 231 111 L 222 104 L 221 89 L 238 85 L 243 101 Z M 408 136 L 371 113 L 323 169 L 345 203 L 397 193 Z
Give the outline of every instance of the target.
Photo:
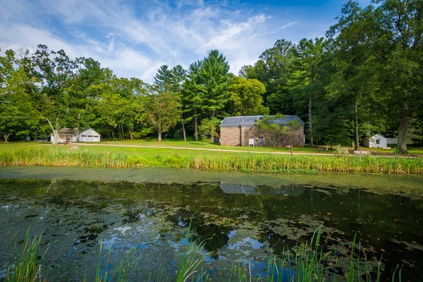
M 231 226 L 217 225 L 205 221 L 196 212 L 180 209 L 176 214 L 168 216 L 168 220 L 176 226 L 189 226 L 194 231 L 192 237 L 197 243 L 204 242 L 204 249 L 212 252 L 211 257 L 219 257 L 218 250 L 228 245 L 229 233 L 233 231 Z

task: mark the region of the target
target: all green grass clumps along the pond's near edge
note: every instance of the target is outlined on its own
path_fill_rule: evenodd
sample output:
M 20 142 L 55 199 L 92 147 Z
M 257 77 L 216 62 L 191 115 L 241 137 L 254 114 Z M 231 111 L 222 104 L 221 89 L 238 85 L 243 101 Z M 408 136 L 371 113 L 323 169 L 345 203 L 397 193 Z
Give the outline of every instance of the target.
M 30 238 L 30 230 L 28 229 L 25 239 L 21 241 L 22 244 L 15 243 L 13 249 L 13 256 L 11 262 L 7 265 L 6 282 L 25 282 L 25 281 L 47 281 L 45 276 L 45 266 L 43 259 L 51 247 L 42 252 L 42 237 L 35 236 Z M 195 231 L 194 231 L 195 233 Z M 298 282 L 323 282 L 328 278 L 331 281 L 338 279 L 350 282 L 355 281 L 381 281 L 381 272 L 383 264 L 381 261 L 372 262 L 372 259 L 367 259 L 365 248 L 361 243 L 356 243 L 354 238 L 350 250 L 348 250 L 349 259 L 347 264 L 341 265 L 338 262 L 337 255 L 333 255 L 332 251 L 324 251 L 324 245 L 321 245 L 321 228 L 314 231 L 312 238 L 308 241 L 302 242 L 299 245 L 291 246 L 283 252 L 281 257 L 270 255 L 267 260 L 267 269 L 262 270 L 262 273 L 254 273 L 251 269 L 250 259 L 247 263 L 234 262 L 229 271 L 228 281 L 298 281 Z M 171 277 L 171 281 L 212 281 L 212 276 L 216 275 L 207 270 L 207 265 L 204 260 L 212 252 L 205 252 L 204 244 L 197 243 L 195 238 L 190 233 L 190 226 L 185 234 L 185 240 L 188 244 L 183 248 L 183 252 L 178 258 L 176 277 Z M 14 237 L 14 236 L 13 236 Z M 130 248 L 125 257 L 121 259 L 120 264 L 111 265 L 109 259 L 111 258 L 112 244 L 109 250 L 103 252 L 105 247 L 102 239 L 97 243 L 99 245 L 99 256 L 95 268 L 95 277 L 93 281 L 133 281 L 137 279 L 133 277 L 137 264 L 142 263 L 142 252 L 138 252 L 137 246 Z M 23 251 L 20 250 L 23 245 Z M 106 264 L 106 267 L 104 267 Z M 90 266 L 88 266 L 90 267 Z M 92 266 L 94 267 L 94 266 Z M 160 267 L 161 269 L 161 267 Z M 338 274 L 340 269 L 343 275 Z M 391 275 L 391 281 L 401 281 L 402 266 L 397 266 Z M 93 271 L 88 271 L 88 273 Z M 338 278 L 338 279 L 337 279 Z M 174 280 L 173 280 L 174 279 Z M 398 279 L 398 280 L 397 280 Z M 92 281 L 87 278 L 87 269 L 82 281 Z M 152 272 L 149 274 L 149 281 L 170 281 L 169 276 L 162 274 L 157 278 L 152 277 Z

